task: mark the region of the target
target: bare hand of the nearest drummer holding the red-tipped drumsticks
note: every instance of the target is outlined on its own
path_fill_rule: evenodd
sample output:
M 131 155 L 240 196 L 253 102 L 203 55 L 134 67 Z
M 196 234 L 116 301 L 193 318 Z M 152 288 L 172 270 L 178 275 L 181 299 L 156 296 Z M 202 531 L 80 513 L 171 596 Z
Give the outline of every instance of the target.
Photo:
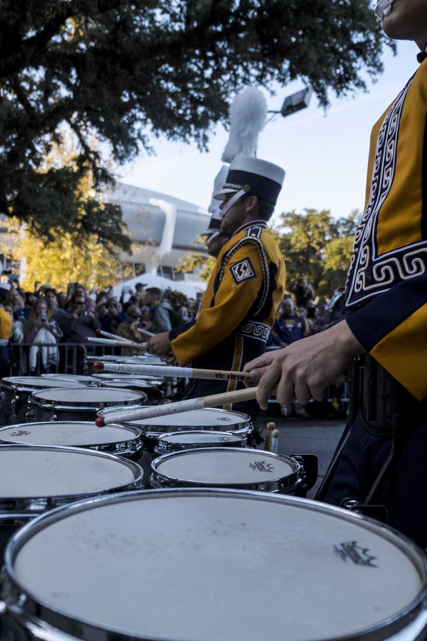
M 345 374 L 353 356 L 365 353 L 345 320 L 319 334 L 298 340 L 285 349 L 266 352 L 246 363 L 243 370 L 258 382 L 256 400 L 267 409 L 272 388 L 281 405 L 294 397 L 302 405 L 322 401 L 324 390 Z

